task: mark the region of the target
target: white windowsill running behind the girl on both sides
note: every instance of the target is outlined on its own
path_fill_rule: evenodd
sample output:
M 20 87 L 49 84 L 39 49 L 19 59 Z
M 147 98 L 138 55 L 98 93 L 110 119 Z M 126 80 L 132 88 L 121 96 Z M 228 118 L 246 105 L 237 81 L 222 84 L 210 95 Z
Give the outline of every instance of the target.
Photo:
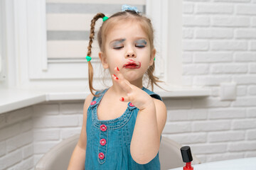
M 209 89 L 180 87 L 169 89 L 170 91 L 154 91 L 162 98 L 185 98 L 210 96 Z M 54 92 L 53 92 L 54 91 Z M 65 92 L 64 92 L 65 91 Z M 85 100 L 90 91 L 67 90 L 25 90 L 25 89 L 0 89 L 0 114 L 14 111 L 18 108 L 32 106 L 44 101 L 73 101 Z

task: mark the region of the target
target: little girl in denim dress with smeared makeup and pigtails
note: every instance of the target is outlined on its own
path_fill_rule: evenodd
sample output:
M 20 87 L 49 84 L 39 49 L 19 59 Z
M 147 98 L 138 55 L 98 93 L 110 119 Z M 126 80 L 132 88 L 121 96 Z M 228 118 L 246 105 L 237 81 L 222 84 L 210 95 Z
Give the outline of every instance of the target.
M 92 86 L 90 62 L 95 22 L 99 18 L 104 21 L 97 35 L 99 57 L 104 69 L 109 69 L 113 83 L 103 91 Z M 142 85 L 145 73 L 152 87 L 159 82 L 153 75 L 153 42 L 151 21 L 137 8 L 123 6 L 122 12 L 110 18 L 97 13 L 92 19 L 86 57 L 92 94 L 85 99 L 80 139 L 68 169 L 160 169 L 158 152 L 166 106 L 159 95 Z

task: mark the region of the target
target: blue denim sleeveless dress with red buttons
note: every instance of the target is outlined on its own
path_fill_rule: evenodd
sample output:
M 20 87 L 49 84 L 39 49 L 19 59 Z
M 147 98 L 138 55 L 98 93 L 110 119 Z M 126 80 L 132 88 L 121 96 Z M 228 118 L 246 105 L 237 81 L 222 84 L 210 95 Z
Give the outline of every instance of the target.
M 161 97 L 146 88 L 142 88 L 153 98 L 162 101 Z M 147 164 L 134 162 L 130 152 L 132 133 L 139 111 L 132 103 L 128 103 L 126 111 L 112 120 L 98 120 L 97 106 L 107 89 L 97 91 L 99 97 L 93 97 L 87 110 L 87 147 L 85 157 L 86 170 L 126 170 L 145 169 L 159 170 L 159 153 Z M 145 141 L 150 142 L 150 141 Z

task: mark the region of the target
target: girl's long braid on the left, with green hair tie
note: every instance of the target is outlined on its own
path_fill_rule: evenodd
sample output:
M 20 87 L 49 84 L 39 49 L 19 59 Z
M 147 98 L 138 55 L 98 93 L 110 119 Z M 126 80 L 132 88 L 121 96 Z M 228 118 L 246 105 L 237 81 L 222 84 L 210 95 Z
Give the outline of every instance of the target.
M 87 56 L 91 57 L 92 54 L 92 42 L 94 40 L 94 36 L 95 36 L 95 23 L 99 18 L 103 18 L 105 15 L 103 13 L 97 13 L 96 16 L 92 19 L 91 21 L 91 28 L 90 28 L 90 41 L 89 41 L 89 45 L 87 47 L 88 52 L 87 52 Z M 93 67 L 92 67 L 92 63 L 89 61 L 88 62 L 88 75 L 89 75 L 89 88 L 90 88 L 90 92 L 93 94 L 93 96 L 97 96 L 95 95 L 92 91 L 97 91 L 96 89 L 93 88 L 92 86 L 92 81 L 93 81 Z

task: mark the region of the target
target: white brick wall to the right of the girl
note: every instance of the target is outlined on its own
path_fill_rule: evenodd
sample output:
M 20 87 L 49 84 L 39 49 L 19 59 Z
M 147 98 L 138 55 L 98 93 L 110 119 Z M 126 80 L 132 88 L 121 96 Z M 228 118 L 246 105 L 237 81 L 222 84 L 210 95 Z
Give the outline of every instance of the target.
M 202 162 L 256 157 L 255 2 L 183 0 L 183 81 L 212 93 L 169 108 L 164 132 Z M 223 82 L 237 84 L 234 101 L 220 101 Z

